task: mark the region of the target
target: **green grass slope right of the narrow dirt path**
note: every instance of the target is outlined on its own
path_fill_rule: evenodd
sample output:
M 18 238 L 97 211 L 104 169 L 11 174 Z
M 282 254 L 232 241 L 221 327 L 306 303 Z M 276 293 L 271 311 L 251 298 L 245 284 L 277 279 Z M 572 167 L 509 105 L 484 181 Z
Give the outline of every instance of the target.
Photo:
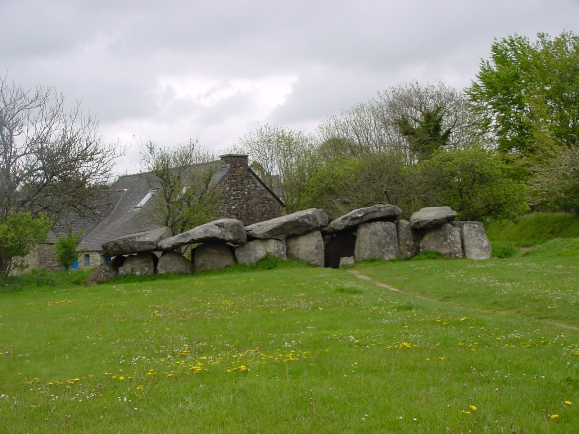
M 358 263 L 406 293 L 579 328 L 579 239 L 556 238 L 511 259 Z

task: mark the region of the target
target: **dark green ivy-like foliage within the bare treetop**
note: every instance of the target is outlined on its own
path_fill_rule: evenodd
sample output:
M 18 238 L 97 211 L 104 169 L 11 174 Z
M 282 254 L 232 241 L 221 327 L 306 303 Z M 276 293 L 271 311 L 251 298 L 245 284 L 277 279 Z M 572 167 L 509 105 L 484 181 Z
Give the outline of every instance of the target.
M 429 159 L 434 152 L 448 145 L 452 130 L 443 129 L 441 107 L 421 113 L 422 119 L 414 118 L 413 123 L 406 115 L 397 121 L 400 134 L 408 139 L 410 152 L 417 161 Z

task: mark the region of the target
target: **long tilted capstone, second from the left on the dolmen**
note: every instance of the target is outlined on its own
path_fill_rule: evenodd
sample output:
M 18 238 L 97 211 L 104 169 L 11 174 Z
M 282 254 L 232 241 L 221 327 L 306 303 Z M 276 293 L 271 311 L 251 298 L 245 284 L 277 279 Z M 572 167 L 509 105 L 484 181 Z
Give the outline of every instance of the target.
M 238 244 L 245 240 L 247 236 L 243 222 L 237 219 L 219 219 L 160 241 L 159 250 L 174 250 L 182 245 L 199 242 L 218 241 Z

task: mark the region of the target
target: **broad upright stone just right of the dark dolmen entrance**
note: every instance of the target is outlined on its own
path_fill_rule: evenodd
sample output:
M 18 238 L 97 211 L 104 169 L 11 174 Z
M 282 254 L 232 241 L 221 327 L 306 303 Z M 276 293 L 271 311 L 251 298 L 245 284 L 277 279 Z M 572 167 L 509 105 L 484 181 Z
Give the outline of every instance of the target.
M 358 226 L 354 259 L 394 259 L 399 255 L 396 225 L 392 222 L 362 223 Z

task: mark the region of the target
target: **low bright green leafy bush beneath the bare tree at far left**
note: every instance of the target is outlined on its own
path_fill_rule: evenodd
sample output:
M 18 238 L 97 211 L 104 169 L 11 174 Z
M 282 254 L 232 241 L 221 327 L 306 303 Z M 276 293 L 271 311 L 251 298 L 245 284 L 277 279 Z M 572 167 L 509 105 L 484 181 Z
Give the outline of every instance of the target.
M 28 255 L 39 242 L 46 240 L 52 221 L 44 214 L 30 212 L 6 216 L 0 223 L 0 273 L 7 276 L 14 269 L 24 269 L 23 262 L 14 263 L 15 256 Z

